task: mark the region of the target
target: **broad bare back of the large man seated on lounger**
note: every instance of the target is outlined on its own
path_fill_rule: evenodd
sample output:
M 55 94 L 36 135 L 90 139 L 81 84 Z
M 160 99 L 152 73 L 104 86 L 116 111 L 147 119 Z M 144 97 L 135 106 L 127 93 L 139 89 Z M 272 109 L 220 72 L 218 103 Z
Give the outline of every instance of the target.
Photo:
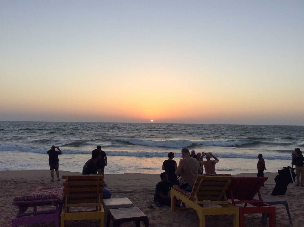
M 187 170 L 181 171 L 181 183 L 188 183 L 193 186 L 199 175 L 199 162 L 192 157 L 190 157 L 190 159 L 185 158 L 185 160 L 187 162 Z

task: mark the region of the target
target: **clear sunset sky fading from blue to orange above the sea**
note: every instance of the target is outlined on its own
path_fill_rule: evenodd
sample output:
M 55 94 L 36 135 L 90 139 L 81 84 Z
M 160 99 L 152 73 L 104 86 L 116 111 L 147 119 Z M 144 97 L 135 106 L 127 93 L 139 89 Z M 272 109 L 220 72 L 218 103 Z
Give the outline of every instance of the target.
M 0 1 L 0 120 L 304 125 L 304 1 Z

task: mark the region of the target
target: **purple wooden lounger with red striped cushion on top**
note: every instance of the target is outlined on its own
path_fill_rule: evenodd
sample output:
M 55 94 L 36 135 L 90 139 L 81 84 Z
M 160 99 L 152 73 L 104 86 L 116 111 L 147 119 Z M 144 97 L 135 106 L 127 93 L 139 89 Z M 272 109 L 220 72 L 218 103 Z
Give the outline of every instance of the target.
M 12 218 L 12 227 L 33 223 L 55 222 L 59 226 L 59 217 L 64 202 L 62 186 L 37 187 L 29 196 L 13 199 L 13 204 L 19 208 L 17 215 Z M 51 205 L 50 210 L 37 211 L 37 207 Z M 33 212 L 26 212 L 33 207 Z

